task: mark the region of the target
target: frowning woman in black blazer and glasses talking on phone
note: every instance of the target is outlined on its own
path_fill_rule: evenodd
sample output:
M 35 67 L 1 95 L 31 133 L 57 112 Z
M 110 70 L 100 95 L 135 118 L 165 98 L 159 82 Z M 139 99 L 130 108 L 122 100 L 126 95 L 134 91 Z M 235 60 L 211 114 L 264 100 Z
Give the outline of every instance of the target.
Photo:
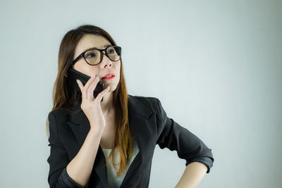
M 50 187 L 149 187 L 156 144 L 186 161 L 176 187 L 195 187 L 212 168 L 212 149 L 168 118 L 159 99 L 127 94 L 116 49 L 94 25 L 70 30 L 61 41 L 47 119 Z M 80 92 L 66 84 L 69 68 L 91 77 L 85 85 L 78 80 Z M 99 81 L 104 89 L 94 97 Z

